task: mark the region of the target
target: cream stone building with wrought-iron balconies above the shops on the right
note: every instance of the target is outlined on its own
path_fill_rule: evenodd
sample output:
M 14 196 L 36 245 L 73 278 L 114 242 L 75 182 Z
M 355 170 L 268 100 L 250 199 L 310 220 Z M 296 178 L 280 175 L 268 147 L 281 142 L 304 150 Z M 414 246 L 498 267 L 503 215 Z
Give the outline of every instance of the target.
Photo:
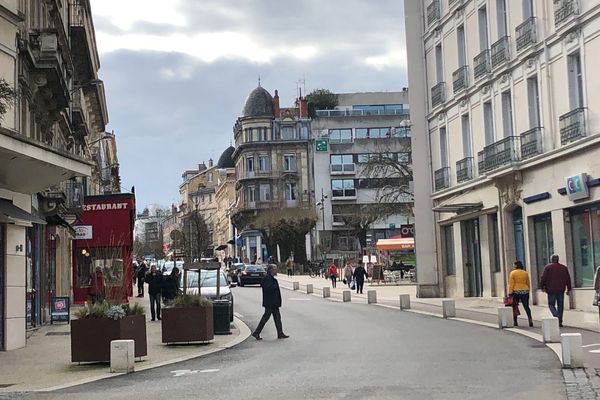
M 598 0 L 405 0 L 420 296 L 533 301 L 551 254 L 571 307 L 600 264 Z

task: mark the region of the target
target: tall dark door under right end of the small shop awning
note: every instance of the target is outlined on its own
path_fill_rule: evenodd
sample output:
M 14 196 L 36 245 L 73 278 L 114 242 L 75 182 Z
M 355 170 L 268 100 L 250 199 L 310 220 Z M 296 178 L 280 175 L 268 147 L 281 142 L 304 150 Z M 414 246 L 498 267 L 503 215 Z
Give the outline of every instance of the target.
M 483 276 L 481 272 L 481 249 L 479 247 L 479 220 L 463 222 L 465 238 L 465 296 L 483 296 Z

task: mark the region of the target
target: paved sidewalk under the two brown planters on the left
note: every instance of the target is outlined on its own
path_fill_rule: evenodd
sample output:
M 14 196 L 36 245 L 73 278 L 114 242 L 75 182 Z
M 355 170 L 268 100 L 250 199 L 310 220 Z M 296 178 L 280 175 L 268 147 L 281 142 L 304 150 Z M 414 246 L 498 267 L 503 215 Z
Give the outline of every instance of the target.
M 130 302 L 141 302 L 147 311 L 148 355 L 142 357 L 141 361 L 136 359 L 136 371 L 220 351 L 242 342 L 250 335 L 248 327 L 235 318 L 231 335 L 215 335 L 212 343 L 166 346 L 161 343 L 160 321 L 150 321 L 148 297 L 133 297 Z M 118 375 L 111 374 L 106 363 L 72 363 L 69 332 L 70 325 L 64 323 L 45 325 L 28 333 L 27 347 L 0 352 L 0 393 L 58 389 Z

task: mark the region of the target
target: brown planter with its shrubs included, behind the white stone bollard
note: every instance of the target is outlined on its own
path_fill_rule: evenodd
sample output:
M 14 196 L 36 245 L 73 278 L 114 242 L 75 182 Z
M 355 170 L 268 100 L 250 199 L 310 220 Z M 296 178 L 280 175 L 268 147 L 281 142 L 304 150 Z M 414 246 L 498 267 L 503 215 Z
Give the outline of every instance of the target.
M 112 340 L 133 339 L 135 356 L 148 354 L 146 316 L 139 304 L 84 306 L 71 321 L 71 361 L 110 361 Z

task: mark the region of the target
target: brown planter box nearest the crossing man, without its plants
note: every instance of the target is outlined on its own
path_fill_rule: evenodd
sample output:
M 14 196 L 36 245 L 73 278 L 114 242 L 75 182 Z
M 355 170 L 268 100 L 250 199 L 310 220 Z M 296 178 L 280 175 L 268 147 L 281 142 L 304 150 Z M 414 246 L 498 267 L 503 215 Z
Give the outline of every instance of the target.
M 213 308 L 169 307 L 161 310 L 162 342 L 208 342 L 214 339 Z

